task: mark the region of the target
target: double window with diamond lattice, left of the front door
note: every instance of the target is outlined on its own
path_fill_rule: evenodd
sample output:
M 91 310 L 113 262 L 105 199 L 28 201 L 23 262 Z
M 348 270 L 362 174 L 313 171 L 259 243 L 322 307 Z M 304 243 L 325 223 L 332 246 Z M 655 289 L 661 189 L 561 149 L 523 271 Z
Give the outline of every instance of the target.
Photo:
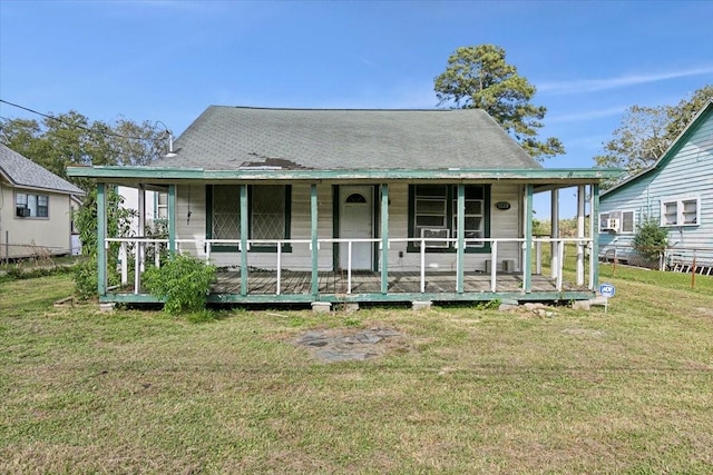
M 240 186 L 209 187 L 208 238 L 241 238 Z M 255 240 L 290 239 L 291 187 L 283 185 L 254 185 L 247 187 L 247 238 Z M 237 250 L 237 245 L 215 246 L 216 250 Z M 274 244 L 253 244 L 251 250 L 274 251 Z M 283 245 L 289 251 L 290 246 Z

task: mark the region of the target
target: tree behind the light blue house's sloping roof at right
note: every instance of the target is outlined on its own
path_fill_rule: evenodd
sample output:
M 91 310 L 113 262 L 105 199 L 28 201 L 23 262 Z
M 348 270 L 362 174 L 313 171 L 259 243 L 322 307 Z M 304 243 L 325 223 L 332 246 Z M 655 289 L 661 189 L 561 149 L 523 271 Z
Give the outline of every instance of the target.
M 677 106 L 632 106 L 614 130 L 614 138 L 604 145 L 604 154 L 594 161 L 598 167 L 624 168 L 624 178 L 651 167 L 711 99 L 713 86 L 709 85 Z M 603 187 L 614 185 L 616 181 L 607 181 Z

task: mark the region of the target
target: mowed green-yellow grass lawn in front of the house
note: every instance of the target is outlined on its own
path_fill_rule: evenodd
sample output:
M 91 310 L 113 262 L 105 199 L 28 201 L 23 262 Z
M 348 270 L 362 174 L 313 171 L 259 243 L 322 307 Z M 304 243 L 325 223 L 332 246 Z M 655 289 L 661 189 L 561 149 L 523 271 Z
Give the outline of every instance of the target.
M 609 311 L 281 309 L 192 323 L 0 284 L 0 473 L 713 472 L 713 277 L 603 266 Z M 661 284 L 657 284 L 661 283 Z M 307 329 L 388 327 L 324 364 Z

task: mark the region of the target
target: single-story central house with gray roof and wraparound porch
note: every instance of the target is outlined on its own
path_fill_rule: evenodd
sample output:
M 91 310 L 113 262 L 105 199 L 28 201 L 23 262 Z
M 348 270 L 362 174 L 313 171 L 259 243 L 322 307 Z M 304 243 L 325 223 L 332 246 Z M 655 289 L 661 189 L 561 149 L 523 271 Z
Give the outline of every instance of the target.
M 156 301 L 140 275 L 160 253 L 144 263 L 141 249 L 165 246 L 218 267 L 209 301 L 328 305 L 589 299 L 598 234 L 585 205 L 619 170 L 543 168 L 478 109 L 212 106 L 150 166 L 68 172 L 97 180 L 102 301 Z M 166 192 L 168 237 L 107 236 L 108 186 Z M 533 237 L 533 196 L 573 186 L 583 225 L 567 281 L 561 258 L 541 274 L 538 250 L 561 256 L 567 239 Z M 110 241 L 138 249 L 118 288 Z

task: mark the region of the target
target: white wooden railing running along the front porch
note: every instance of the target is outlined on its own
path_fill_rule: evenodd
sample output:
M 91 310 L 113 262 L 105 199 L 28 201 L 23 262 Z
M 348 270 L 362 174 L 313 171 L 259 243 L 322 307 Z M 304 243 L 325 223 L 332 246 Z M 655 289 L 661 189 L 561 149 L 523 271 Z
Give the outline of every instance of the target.
M 521 274 L 525 277 L 525 274 L 530 271 L 530 275 L 541 275 L 543 271 L 543 245 L 550 245 L 554 248 L 554 253 L 556 259 L 553 259 L 553 264 L 555 268 L 553 269 L 553 276 L 555 278 L 555 287 L 558 291 L 563 289 L 563 267 L 565 260 L 565 247 L 567 244 L 575 244 L 577 248 L 577 255 L 588 255 L 589 256 L 589 276 L 587 288 L 589 290 L 594 289 L 594 280 L 595 280 L 595 266 L 597 264 L 596 256 L 592 256 L 592 247 L 593 241 L 590 238 L 533 238 L 534 246 L 534 258 L 535 258 L 535 268 L 533 269 L 531 263 L 529 265 L 525 265 L 527 260 L 527 249 L 525 238 L 471 238 L 465 239 L 466 249 L 469 247 L 482 247 L 487 244 L 490 245 L 489 253 L 478 253 L 470 254 L 466 253 L 463 256 L 463 263 L 466 261 L 482 261 L 484 259 L 490 260 L 489 276 L 490 276 L 490 291 L 497 291 L 497 274 L 498 274 L 498 265 L 500 261 L 499 256 L 501 253 L 501 247 L 507 244 L 516 244 L 520 247 L 521 254 L 519 256 L 519 270 L 518 273 L 512 274 Z M 160 266 L 160 256 L 162 251 L 165 251 L 168 248 L 169 241 L 166 238 L 157 239 L 157 238 L 146 238 L 146 237 L 127 237 L 127 238 L 107 238 L 105 240 L 105 247 L 108 249 L 110 243 L 120 243 L 119 248 L 119 265 L 120 265 L 120 274 L 121 274 L 121 284 L 128 284 L 128 270 L 129 270 L 129 256 L 133 254 L 134 261 L 134 293 L 140 293 L 140 276 L 146 266 L 146 256 L 147 250 L 153 249 L 154 254 L 154 266 Z M 237 253 L 242 254 L 242 241 L 240 239 L 175 239 L 175 248 L 176 251 L 180 253 L 182 248 L 194 248 L 194 249 L 205 249 L 205 260 L 206 263 L 211 261 L 213 253 L 215 251 L 216 246 L 235 246 L 237 248 Z M 316 240 L 316 250 L 312 249 L 312 239 L 248 239 L 246 241 L 245 251 L 250 251 L 252 247 L 274 247 L 275 248 L 275 261 L 274 261 L 274 270 L 276 276 L 276 293 L 275 295 L 282 294 L 282 273 L 285 270 L 284 259 L 283 259 L 283 246 L 305 246 L 310 253 L 319 251 L 323 245 L 334 245 L 334 244 L 345 244 L 346 245 L 346 294 L 352 294 L 352 263 L 353 263 L 353 248 L 355 244 L 368 243 L 372 246 L 374 244 L 378 245 L 381 250 L 382 239 L 381 238 L 370 238 L 370 239 L 349 239 L 349 238 L 319 238 Z M 449 247 L 457 248 L 458 238 L 389 238 L 388 247 L 391 248 L 393 244 L 403 245 L 414 245 L 419 247 L 419 270 L 420 270 L 420 291 L 426 293 L 427 285 L 427 268 L 429 267 L 427 264 L 427 256 L 429 255 L 428 249 L 431 247 L 427 246 L 429 243 L 448 243 Z M 582 253 L 579 253 L 582 250 Z M 511 256 L 511 253 L 510 253 Z M 459 259 L 456 259 L 456 263 L 459 263 Z M 263 263 L 261 263 L 264 266 Z M 584 263 L 582 263 L 584 266 Z M 236 263 L 235 267 L 241 267 L 241 261 Z M 331 267 L 331 264 L 330 264 Z M 245 269 L 247 270 L 247 269 Z M 315 270 L 315 269 L 313 269 Z M 381 266 L 381 273 L 384 271 L 384 266 Z M 389 273 L 389 268 L 387 266 L 387 274 Z M 383 275 L 383 274 L 382 274 Z M 456 266 L 456 271 L 453 273 L 453 278 L 459 279 L 461 276 L 461 270 Z M 522 286 L 525 286 L 526 279 L 522 278 Z M 584 286 L 584 281 L 577 281 L 578 286 Z M 522 287 L 522 290 L 526 289 Z

